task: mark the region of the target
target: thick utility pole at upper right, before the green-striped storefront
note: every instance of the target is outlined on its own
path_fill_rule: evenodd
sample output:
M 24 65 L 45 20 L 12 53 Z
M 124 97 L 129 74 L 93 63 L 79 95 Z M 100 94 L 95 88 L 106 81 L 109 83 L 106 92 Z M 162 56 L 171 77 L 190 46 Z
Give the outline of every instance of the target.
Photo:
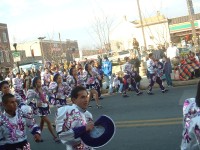
M 196 53 L 196 48 L 198 46 L 198 43 L 197 43 L 196 29 L 195 29 L 195 24 L 194 24 L 194 8 L 193 8 L 192 0 L 187 0 L 187 7 L 188 7 L 191 28 L 192 28 L 192 40 L 194 42 L 194 48 L 195 48 L 195 53 Z

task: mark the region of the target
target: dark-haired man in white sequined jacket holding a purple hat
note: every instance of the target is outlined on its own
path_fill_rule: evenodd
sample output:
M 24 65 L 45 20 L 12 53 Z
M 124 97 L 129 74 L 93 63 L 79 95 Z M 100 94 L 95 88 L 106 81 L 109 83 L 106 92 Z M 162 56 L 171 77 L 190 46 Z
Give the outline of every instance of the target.
M 56 131 L 67 150 L 93 150 L 83 143 L 81 135 L 94 128 L 92 114 L 87 111 L 89 104 L 87 90 L 82 86 L 71 92 L 72 106 L 58 108 Z

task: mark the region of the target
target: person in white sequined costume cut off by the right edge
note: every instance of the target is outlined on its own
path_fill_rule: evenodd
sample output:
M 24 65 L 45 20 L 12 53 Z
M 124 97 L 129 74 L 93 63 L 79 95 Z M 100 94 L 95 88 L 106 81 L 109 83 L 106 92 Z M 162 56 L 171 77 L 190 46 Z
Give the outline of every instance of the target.
M 188 98 L 183 105 L 183 132 L 181 150 L 199 149 L 200 143 L 200 82 L 195 98 Z

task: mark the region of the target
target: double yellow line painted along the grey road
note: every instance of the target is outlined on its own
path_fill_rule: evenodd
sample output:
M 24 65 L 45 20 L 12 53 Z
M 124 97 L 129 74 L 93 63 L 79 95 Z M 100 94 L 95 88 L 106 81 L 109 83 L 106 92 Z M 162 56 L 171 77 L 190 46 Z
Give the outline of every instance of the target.
M 181 121 L 183 118 L 166 118 L 166 119 L 153 119 L 153 120 L 130 120 L 130 121 L 117 121 L 115 124 L 128 124 L 128 123 L 141 123 L 141 122 L 166 122 L 166 121 Z

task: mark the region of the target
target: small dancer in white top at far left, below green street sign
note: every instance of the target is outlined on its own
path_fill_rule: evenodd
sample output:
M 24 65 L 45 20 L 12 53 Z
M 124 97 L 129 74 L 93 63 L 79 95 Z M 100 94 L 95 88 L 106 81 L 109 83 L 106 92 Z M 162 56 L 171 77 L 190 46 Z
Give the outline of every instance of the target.
M 23 90 L 23 79 L 21 78 L 20 73 L 16 74 L 16 78 L 13 79 L 13 88 L 16 93 L 18 93 L 24 101 L 26 101 L 26 95 Z

